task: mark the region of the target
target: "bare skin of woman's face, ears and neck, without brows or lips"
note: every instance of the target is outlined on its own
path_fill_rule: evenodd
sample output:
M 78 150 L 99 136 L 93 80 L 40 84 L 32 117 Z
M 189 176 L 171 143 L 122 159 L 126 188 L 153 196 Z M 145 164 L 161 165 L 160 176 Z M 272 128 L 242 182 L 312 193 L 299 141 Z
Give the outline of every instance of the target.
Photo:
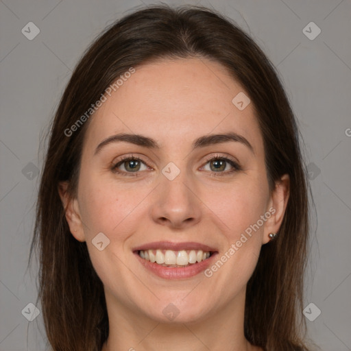
M 91 117 L 77 198 L 66 192 L 66 183 L 60 196 L 73 236 L 86 241 L 104 283 L 110 324 L 104 351 L 262 350 L 243 333 L 245 289 L 261 245 L 280 228 L 289 176 L 269 193 L 254 108 L 232 104 L 239 92 L 245 90 L 216 62 L 163 60 L 139 66 Z M 195 138 L 229 131 L 245 136 L 254 153 L 234 141 L 191 150 Z M 160 149 L 123 142 L 95 154 L 101 141 L 121 132 L 154 138 Z M 138 176 L 111 171 L 131 154 L 145 162 Z M 215 171 L 205 156 L 229 156 L 242 170 L 228 173 L 233 168 L 226 163 Z M 162 174 L 169 162 L 180 169 L 174 180 Z M 128 165 L 119 170 L 131 174 Z M 271 207 L 274 215 L 210 278 L 166 280 L 132 253 L 152 241 L 196 241 L 216 247 L 220 257 Z M 92 244 L 99 232 L 110 239 L 102 251 Z M 162 313 L 170 303 L 179 311 L 172 321 Z

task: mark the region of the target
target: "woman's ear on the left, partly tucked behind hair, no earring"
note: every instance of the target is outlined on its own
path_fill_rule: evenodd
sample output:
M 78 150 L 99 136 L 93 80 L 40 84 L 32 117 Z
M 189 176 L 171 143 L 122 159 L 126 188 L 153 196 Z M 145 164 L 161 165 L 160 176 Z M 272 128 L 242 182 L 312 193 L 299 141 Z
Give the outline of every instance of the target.
M 69 223 L 69 230 L 77 241 L 83 242 L 85 241 L 85 235 L 78 201 L 68 193 L 68 186 L 69 182 L 60 182 L 58 185 L 58 193 L 60 194 L 66 221 Z

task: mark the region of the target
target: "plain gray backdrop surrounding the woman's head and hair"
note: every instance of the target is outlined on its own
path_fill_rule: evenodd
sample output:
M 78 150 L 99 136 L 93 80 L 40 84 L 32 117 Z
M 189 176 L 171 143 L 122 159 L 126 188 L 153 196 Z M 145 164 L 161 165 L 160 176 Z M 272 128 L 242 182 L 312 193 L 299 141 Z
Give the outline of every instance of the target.
M 45 349 L 41 314 L 28 322 L 21 313 L 36 302 L 36 266 L 32 271 L 26 267 L 37 173 L 43 166 L 45 143 L 40 140 L 91 40 L 106 25 L 152 3 L 0 0 L 1 351 Z M 304 306 L 315 304 L 307 308 L 311 319 L 317 308 L 321 314 L 306 322 L 322 350 L 351 350 L 351 1 L 186 3 L 215 8 L 237 21 L 285 84 L 306 144 L 316 205 Z M 21 32 L 30 21 L 40 29 L 33 40 Z M 304 34 L 317 33 L 317 28 L 306 27 L 311 21 L 322 31 L 313 40 Z

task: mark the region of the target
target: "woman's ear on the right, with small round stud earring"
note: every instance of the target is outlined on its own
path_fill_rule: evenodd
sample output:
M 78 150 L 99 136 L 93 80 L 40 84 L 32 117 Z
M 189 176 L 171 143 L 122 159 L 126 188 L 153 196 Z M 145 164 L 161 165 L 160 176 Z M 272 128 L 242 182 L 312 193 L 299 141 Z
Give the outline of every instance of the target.
M 276 181 L 276 186 L 271 192 L 267 212 L 271 217 L 265 223 L 265 230 L 262 243 L 270 241 L 269 234 L 277 233 L 284 218 L 285 209 L 290 195 L 290 178 L 288 174 L 282 175 L 280 180 Z

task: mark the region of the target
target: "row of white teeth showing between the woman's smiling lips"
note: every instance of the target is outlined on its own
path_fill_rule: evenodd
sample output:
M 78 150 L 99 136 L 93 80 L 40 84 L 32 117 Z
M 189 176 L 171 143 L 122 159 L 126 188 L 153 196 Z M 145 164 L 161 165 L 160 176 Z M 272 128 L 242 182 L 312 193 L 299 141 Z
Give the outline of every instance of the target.
M 205 261 L 212 254 L 211 251 L 203 250 L 138 250 L 138 255 L 145 261 L 163 267 L 188 267 Z

